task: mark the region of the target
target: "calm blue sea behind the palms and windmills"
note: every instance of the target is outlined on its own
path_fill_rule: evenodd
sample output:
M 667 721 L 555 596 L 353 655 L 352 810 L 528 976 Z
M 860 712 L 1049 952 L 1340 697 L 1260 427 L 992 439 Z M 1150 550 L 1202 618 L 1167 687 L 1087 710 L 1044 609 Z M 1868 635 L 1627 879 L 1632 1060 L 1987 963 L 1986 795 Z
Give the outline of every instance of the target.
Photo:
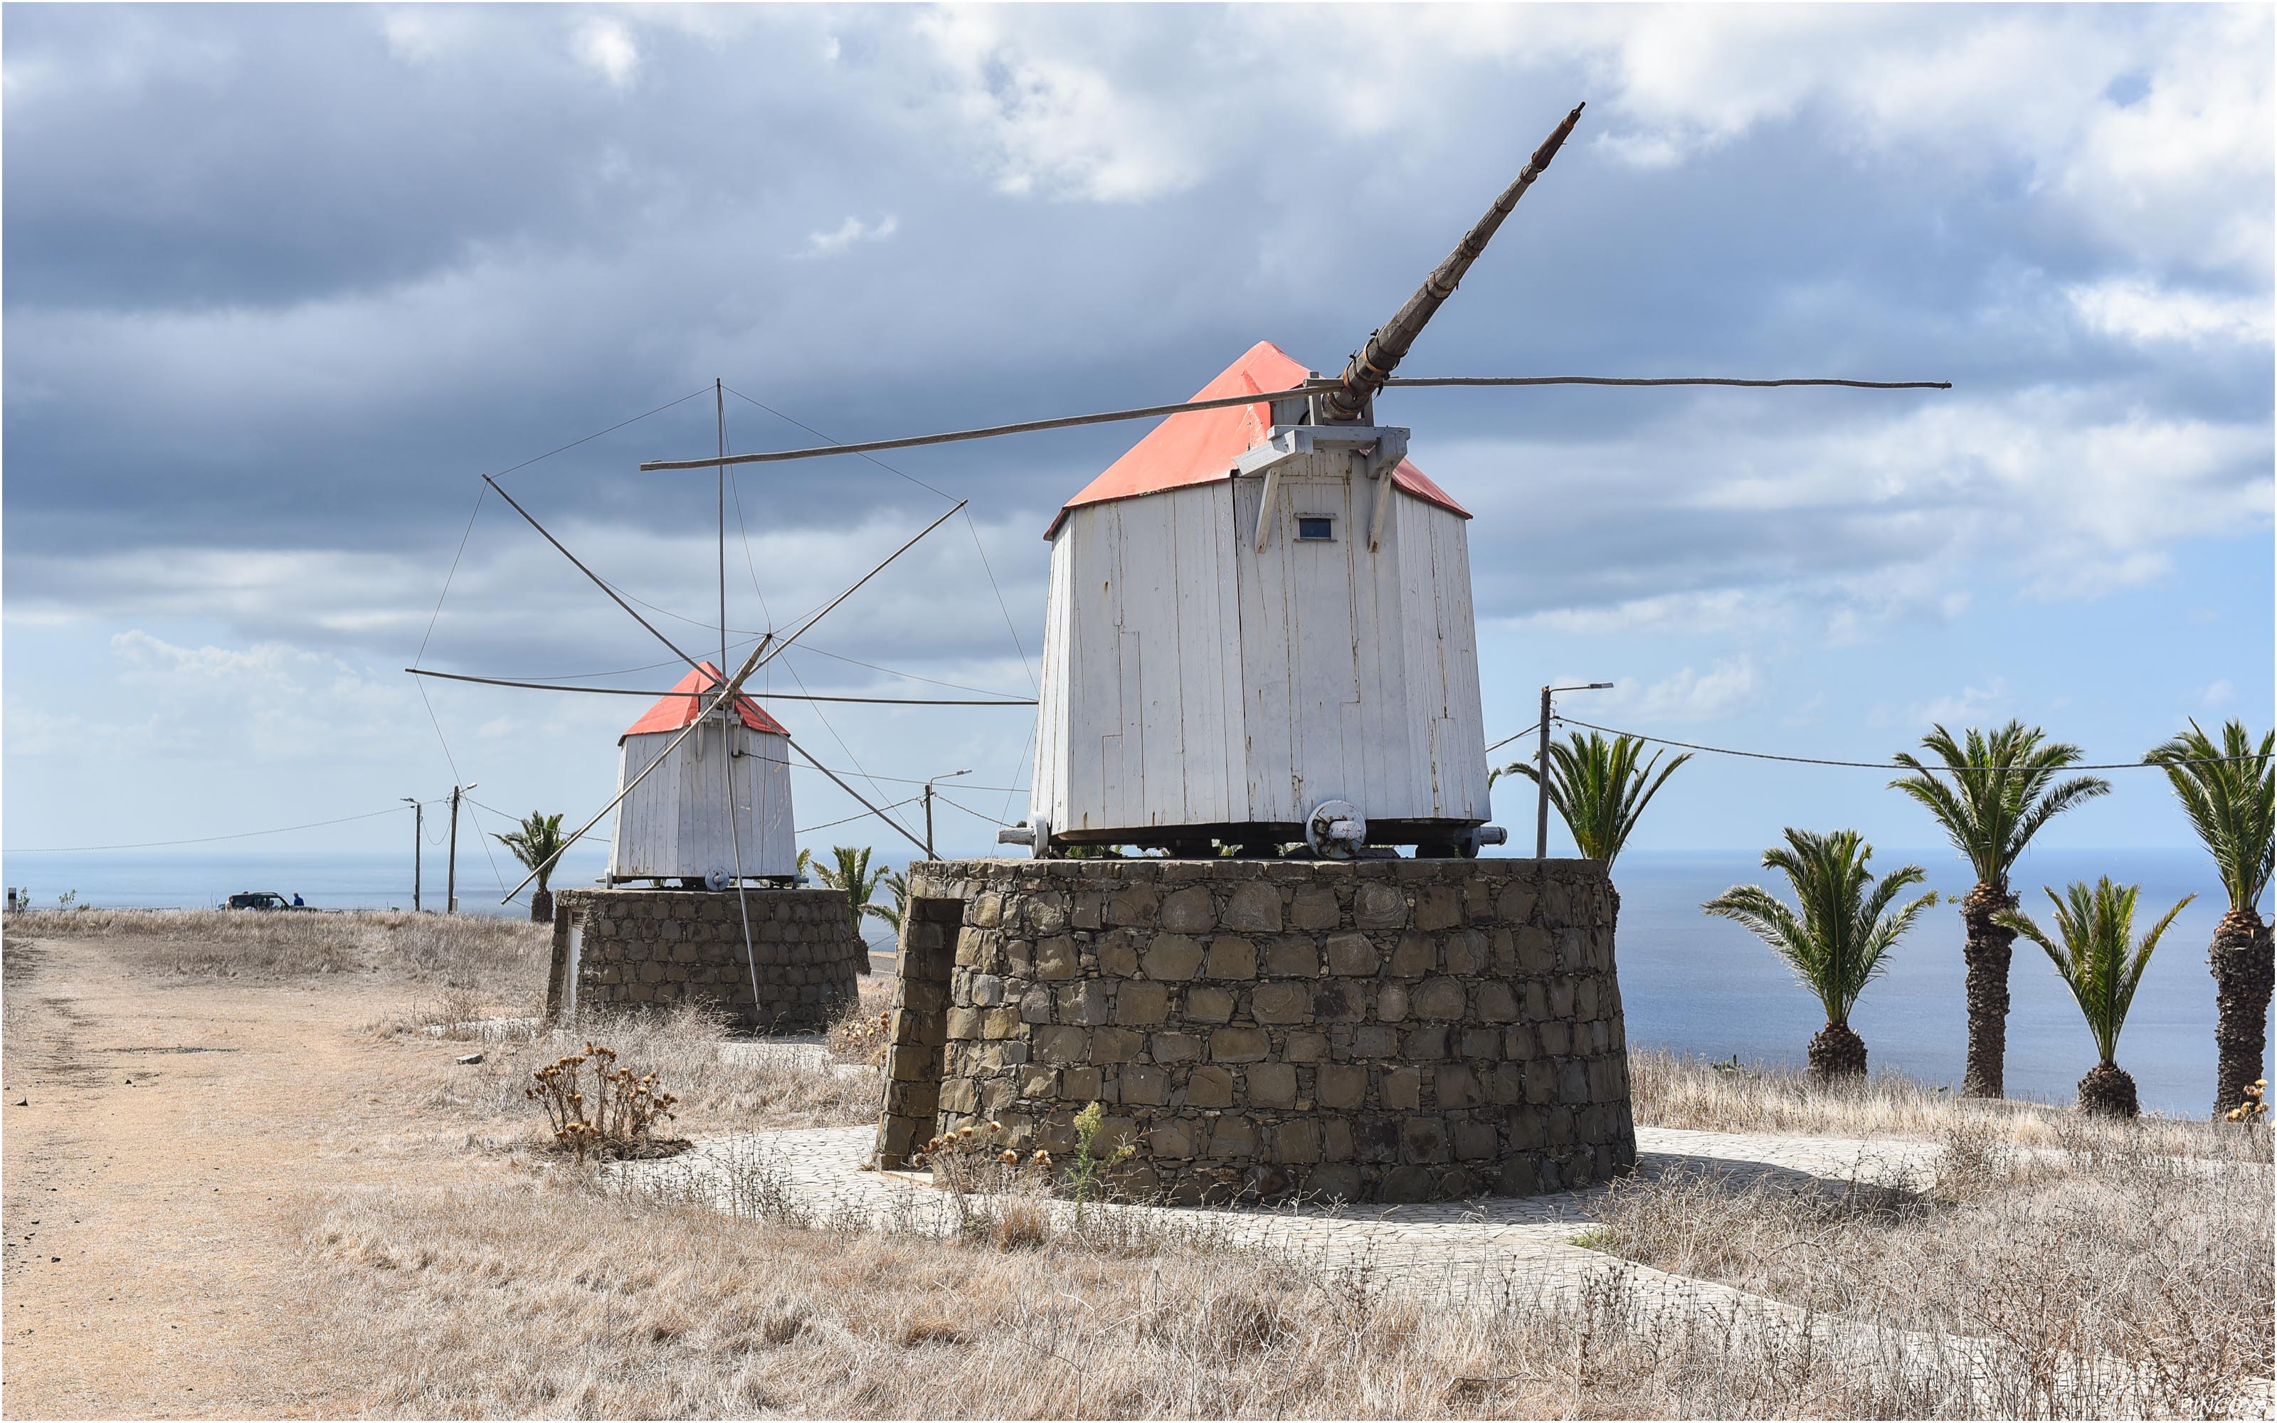
M 1947 849 L 1876 852 L 1888 870 L 1920 863 L 1931 888 L 1954 897 L 1970 888 L 1967 867 Z M 303 895 L 319 908 L 410 908 L 410 856 L 373 854 L 75 854 L 7 856 L 0 879 L 30 888 L 36 904 L 64 890 L 102 906 L 221 904 L 237 890 Z M 899 865 L 899 861 L 895 861 Z M 603 867 L 599 847 L 572 856 L 556 872 L 556 888 L 590 883 Z M 519 867 L 499 856 L 505 883 Z M 2027 911 L 2047 922 L 2038 886 L 2111 874 L 2143 886 L 2138 918 L 2163 913 L 2181 895 L 2200 895 L 2175 920 L 2127 1018 L 2120 1066 L 2134 1072 L 2143 1104 L 2175 1116 L 2202 1116 L 2213 1095 L 2213 979 L 2206 940 L 2222 915 L 2220 886 L 2206 856 L 2172 852 L 2040 852 L 2024 861 L 2017 886 Z M 442 906 L 442 856 L 426 861 L 428 908 Z M 1621 995 L 1628 1034 L 1637 1043 L 1696 1052 L 1712 1059 L 1801 1063 L 1803 1045 L 1819 1029 L 1817 1004 L 1746 929 L 1710 920 L 1701 902 L 1733 883 L 1767 883 L 1785 893 L 1756 858 L 1737 852 L 1642 854 L 1621 858 Z M 480 849 L 460 852 L 460 913 L 524 913 L 496 904 L 501 886 Z M 2079 1075 L 2095 1066 L 2095 1047 L 2079 1009 L 2047 959 L 2017 945 L 2011 972 L 2015 1006 L 2008 1015 L 2008 1093 L 2070 1100 Z M 1958 1081 L 1965 1043 L 1960 911 L 1940 904 L 1897 947 L 1890 972 L 1867 988 L 1851 1027 L 1865 1036 L 1876 1066 L 1901 1068 L 1926 1081 Z

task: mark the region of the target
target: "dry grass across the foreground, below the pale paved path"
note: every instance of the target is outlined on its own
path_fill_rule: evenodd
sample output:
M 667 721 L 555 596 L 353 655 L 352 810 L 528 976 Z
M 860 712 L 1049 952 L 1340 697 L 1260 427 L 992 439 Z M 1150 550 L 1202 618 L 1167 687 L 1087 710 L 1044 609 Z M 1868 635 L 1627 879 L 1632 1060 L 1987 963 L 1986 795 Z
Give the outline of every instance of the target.
M 2013 1398 L 1963 1359 L 1897 1371 L 1667 1314 L 1610 1270 L 1578 1302 L 1450 1307 L 1248 1252 L 797 1229 L 569 1179 L 335 1195 L 303 1241 L 337 1327 L 380 1362 L 371 1412 L 396 1416 L 1769 1418 Z

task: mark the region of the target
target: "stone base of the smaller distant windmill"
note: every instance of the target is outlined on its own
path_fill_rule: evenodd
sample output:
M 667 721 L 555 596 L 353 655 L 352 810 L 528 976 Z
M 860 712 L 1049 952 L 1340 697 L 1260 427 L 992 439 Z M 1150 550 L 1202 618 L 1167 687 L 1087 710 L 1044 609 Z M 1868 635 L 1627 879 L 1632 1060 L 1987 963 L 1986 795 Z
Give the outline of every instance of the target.
M 556 890 L 546 1018 L 708 1002 L 745 1031 L 820 1031 L 856 997 L 868 947 L 840 890 Z M 758 979 L 758 997 L 751 979 Z

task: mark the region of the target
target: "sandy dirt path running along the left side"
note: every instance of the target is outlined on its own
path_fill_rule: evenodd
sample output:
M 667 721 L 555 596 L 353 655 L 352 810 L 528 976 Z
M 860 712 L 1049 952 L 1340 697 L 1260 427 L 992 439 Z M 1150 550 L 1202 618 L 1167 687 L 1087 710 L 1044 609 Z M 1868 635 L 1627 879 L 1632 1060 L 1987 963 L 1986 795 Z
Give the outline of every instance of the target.
M 387 1081 L 455 1047 L 376 1040 L 403 988 L 369 977 L 159 977 L 84 938 L 11 938 L 0 963 L 0 1412 L 360 1412 L 355 1341 L 310 1323 L 291 1202 L 428 1154 Z

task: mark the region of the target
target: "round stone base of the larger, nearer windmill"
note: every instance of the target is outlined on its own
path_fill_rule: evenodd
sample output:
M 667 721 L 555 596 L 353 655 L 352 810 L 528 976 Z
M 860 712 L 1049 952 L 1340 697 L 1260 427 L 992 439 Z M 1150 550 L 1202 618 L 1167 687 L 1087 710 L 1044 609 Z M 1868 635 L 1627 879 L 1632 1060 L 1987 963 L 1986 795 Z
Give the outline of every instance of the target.
M 877 1166 L 990 1120 L 1066 1159 L 1102 1102 L 1173 1202 L 1628 1173 L 1617 906 L 1596 861 L 913 865 Z

